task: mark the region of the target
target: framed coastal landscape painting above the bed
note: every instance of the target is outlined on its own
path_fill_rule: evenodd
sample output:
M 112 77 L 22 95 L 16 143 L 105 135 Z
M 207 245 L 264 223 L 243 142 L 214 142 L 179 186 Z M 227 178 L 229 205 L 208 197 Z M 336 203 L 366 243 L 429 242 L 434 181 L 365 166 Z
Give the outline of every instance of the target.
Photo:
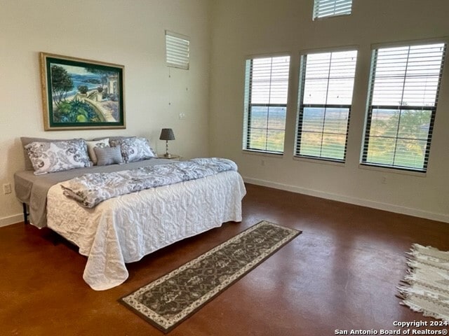
M 123 65 L 45 52 L 39 56 L 46 131 L 126 127 Z

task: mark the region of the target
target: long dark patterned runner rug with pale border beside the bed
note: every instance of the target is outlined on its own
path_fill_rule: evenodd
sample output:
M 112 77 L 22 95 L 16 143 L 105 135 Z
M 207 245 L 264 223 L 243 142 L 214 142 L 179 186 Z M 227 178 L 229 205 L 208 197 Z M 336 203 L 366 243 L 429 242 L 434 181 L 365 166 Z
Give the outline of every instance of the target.
M 300 233 L 262 221 L 119 301 L 169 332 Z

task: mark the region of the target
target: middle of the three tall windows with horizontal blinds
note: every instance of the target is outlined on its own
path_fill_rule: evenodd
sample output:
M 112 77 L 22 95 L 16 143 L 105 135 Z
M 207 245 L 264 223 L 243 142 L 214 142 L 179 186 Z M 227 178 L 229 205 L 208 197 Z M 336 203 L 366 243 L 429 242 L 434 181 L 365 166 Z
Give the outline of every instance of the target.
M 357 51 L 302 55 L 295 155 L 344 162 Z

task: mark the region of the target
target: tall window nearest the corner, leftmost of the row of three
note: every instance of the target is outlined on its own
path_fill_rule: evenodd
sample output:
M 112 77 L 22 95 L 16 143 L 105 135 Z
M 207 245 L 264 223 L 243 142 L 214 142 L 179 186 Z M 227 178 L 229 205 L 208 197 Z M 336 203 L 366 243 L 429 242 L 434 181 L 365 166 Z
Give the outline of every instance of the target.
M 283 153 L 290 56 L 246 60 L 243 149 Z

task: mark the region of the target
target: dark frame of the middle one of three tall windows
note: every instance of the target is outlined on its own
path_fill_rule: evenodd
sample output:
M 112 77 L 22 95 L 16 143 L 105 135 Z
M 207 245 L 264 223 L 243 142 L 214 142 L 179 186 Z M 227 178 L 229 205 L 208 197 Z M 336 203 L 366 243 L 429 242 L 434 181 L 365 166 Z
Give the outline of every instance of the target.
M 316 54 L 324 54 L 324 53 L 333 53 L 333 52 L 350 52 L 354 51 L 356 52 L 356 60 L 354 65 L 354 79 L 353 79 L 353 85 L 352 85 L 352 91 L 351 91 L 351 104 L 304 104 L 304 92 L 305 92 L 305 71 L 307 69 L 307 56 L 308 55 L 316 55 Z M 304 59 L 306 61 L 304 62 Z M 348 136 L 349 136 L 349 123 L 351 120 L 351 110 L 352 105 L 354 101 L 354 87 L 355 87 L 355 79 L 356 79 L 356 68 L 357 68 L 357 61 L 358 61 L 358 48 L 355 45 L 348 45 L 346 47 L 342 48 L 332 48 L 332 49 L 319 49 L 319 50 L 304 50 L 300 53 L 300 71 L 298 74 L 298 94 L 297 94 L 297 118 L 296 118 L 296 124 L 295 124 L 295 144 L 294 144 L 294 150 L 293 150 L 293 157 L 300 159 L 300 160 L 311 160 L 311 162 L 333 162 L 335 164 L 344 164 L 346 162 L 346 155 L 347 155 L 347 144 L 348 144 Z M 327 77 L 327 80 L 330 80 L 330 77 Z M 326 90 L 326 94 L 328 94 L 328 91 Z M 304 108 L 322 108 L 322 109 L 347 109 L 347 127 L 346 127 L 346 133 L 345 133 L 345 141 L 344 141 L 344 155 L 342 159 L 337 158 L 328 158 L 324 156 L 314 156 L 314 155 L 304 155 L 300 154 L 300 144 L 302 142 L 302 125 L 303 125 L 303 118 L 304 118 Z M 324 117 L 326 118 L 326 116 Z M 324 130 L 324 123 L 323 123 L 323 130 Z M 321 134 L 325 134 L 324 132 L 321 132 Z

